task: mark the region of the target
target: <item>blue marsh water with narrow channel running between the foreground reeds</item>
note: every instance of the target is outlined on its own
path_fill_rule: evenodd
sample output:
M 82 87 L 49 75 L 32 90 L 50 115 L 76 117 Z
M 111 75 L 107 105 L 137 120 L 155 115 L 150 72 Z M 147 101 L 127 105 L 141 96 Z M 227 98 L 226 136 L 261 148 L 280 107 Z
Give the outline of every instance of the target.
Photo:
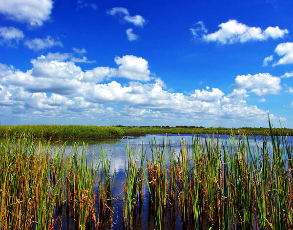
M 240 136 L 241 137 L 241 136 Z M 113 217 L 113 226 L 112 229 L 123 229 L 122 218 L 123 218 L 123 183 L 126 181 L 125 170 L 127 170 L 127 161 L 128 156 L 126 154 L 126 146 L 132 149 L 132 151 L 141 153 L 142 151 L 146 153 L 146 159 L 151 160 L 151 150 L 150 145 L 155 144 L 159 148 L 159 146 L 165 145 L 167 143 L 167 147 L 174 150 L 176 153 L 179 153 L 180 146 L 182 141 L 184 144 L 188 146 L 192 145 L 192 139 L 196 138 L 197 140 L 201 140 L 203 143 L 205 140 L 210 140 L 213 138 L 214 141 L 219 141 L 219 144 L 222 145 L 227 143 L 228 145 L 232 144 L 232 139 L 228 135 L 192 135 L 192 134 L 147 134 L 144 136 L 128 136 L 122 139 L 75 139 L 75 140 L 67 140 L 65 152 L 69 154 L 72 151 L 73 143 L 77 142 L 80 144 L 78 151 L 81 153 L 83 151 L 83 143 L 90 154 L 87 161 L 90 162 L 91 157 L 95 162 L 99 161 L 100 154 L 102 151 L 105 151 L 105 154 L 108 158 L 111 158 L 111 173 L 116 172 L 114 188 L 113 188 L 113 197 L 115 202 L 115 213 Z M 264 142 L 263 136 L 248 136 L 249 145 L 251 149 L 256 148 L 258 145 L 262 146 Z M 235 140 L 237 141 L 239 136 L 235 136 Z M 289 143 L 293 142 L 293 137 L 288 136 L 286 140 Z M 58 142 L 59 144 L 53 145 L 52 149 L 58 149 L 62 143 L 66 140 L 62 140 Z M 271 137 L 268 138 L 268 144 L 271 144 Z M 168 155 L 167 155 L 167 164 L 168 164 Z M 147 188 L 144 188 L 145 197 L 147 197 Z M 144 203 L 138 207 L 140 209 L 138 211 L 139 214 L 134 216 L 134 229 L 155 229 L 152 211 L 150 210 L 148 199 L 144 199 Z M 72 221 L 62 221 L 63 229 L 78 229 L 78 226 Z M 55 229 L 60 229 L 61 225 L 56 223 Z M 108 225 L 106 229 L 110 229 L 111 226 Z M 162 223 L 162 229 L 182 229 L 181 225 L 181 213 L 180 210 L 176 208 L 170 208 L 167 210 Z M 205 228 L 203 228 L 205 229 Z

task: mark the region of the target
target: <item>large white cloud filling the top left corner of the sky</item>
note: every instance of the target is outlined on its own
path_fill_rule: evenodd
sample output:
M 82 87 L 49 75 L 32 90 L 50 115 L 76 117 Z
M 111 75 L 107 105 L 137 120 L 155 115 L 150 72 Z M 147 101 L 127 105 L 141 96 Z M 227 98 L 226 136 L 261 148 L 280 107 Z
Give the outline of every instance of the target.
M 31 26 L 41 26 L 47 21 L 52 8 L 52 0 L 0 0 L 0 13 Z

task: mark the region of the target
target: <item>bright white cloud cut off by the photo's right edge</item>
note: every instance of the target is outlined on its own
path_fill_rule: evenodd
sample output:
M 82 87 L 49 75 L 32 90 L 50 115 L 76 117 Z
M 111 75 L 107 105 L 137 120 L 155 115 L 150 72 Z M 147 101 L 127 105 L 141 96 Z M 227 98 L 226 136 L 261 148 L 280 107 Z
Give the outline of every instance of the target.
M 272 66 L 293 63 L 293 42 L 278 44 L 274 52 L 283 57 L 277 63 L 273 63 Z

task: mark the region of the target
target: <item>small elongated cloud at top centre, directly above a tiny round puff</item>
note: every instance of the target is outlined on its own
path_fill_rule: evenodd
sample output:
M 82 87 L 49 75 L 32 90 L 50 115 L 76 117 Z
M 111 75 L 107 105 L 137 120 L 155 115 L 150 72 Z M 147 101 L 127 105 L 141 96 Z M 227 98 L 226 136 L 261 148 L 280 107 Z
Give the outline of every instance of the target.
M 107 10 L 108 15 L 119 15 L 122 17 L 123 21 L 133 23 L 136 26 L 143 27 L 146 24 L 146 20 L 141 15 L 130 16 L 128 10 L 124 7 L 113 7 Z

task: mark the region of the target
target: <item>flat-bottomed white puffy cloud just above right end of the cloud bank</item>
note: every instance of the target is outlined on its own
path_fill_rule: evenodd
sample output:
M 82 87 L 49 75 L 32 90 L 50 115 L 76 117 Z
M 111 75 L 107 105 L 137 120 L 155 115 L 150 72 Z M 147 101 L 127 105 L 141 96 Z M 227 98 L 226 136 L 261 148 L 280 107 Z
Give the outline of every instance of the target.
M 257 73 L 254 75 L 238 75 L 233 87 L 251 89 L 256 95 L 277 94 L 281 89 L 280 78 L 269 73 Z

